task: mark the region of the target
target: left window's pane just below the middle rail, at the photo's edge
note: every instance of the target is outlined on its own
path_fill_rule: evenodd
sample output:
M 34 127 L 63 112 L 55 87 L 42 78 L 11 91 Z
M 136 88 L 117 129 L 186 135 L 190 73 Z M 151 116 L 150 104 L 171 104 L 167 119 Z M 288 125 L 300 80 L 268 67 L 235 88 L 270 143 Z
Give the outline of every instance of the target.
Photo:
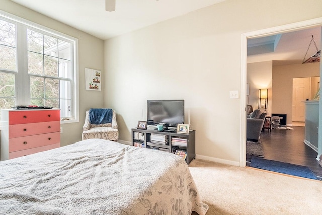
M 14 74 L 0 73 L 0 97 L 15 97 Z

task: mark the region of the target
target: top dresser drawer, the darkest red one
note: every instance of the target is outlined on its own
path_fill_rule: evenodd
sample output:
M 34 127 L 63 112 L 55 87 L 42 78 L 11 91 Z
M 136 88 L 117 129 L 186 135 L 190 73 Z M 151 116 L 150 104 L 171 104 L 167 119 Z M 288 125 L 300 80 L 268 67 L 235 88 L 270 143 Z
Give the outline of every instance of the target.
M 9 125 L 60 121 L 60 110 L 9 111 Z

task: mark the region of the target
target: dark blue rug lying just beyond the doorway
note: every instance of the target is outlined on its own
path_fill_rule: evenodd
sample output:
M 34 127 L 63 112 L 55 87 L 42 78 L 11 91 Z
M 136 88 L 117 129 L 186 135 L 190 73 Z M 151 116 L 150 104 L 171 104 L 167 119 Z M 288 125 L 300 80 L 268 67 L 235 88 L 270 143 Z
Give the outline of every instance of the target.
M 314 173 L 308 167 L 305 166 L 289 164 L 279 161 L 272 161 L 257 157 L 252 157 L 250 166 L 287 175 L 294 175 L 298 177 L 318 180 Z

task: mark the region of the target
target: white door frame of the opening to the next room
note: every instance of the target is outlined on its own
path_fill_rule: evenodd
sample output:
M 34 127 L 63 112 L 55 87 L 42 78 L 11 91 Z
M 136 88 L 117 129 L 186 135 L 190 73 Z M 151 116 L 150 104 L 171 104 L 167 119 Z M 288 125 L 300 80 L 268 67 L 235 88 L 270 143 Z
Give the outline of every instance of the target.
M 272 28 L 247 32 L 241 34 L 241 74 L 240 74 L 240 166 L 246 166 L 246 76 L 247 76 L 247 39 L 271 36 L 275 34 L 304 30 L 307 28 L 321 27 L 322 17 Z M 321 39 L 322 40 L 322 39 Z M 320 74 L 322 63 L 320 64 Z M 319 105 L 319 116 L 322 116 L 322 100 Z M 319 117 L 319 132 L 322 133 L 322 117 Z M 318 140 L 319 153 L 322 154 L 322 138 Z

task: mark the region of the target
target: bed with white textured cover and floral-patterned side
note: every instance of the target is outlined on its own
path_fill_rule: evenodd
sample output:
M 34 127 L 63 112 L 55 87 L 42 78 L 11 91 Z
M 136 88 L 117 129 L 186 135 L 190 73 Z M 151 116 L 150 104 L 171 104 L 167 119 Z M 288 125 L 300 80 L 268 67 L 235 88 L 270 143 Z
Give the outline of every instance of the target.
M 205 214 L 172 153 L 87 139 L 0 162 L 0 214 Z

